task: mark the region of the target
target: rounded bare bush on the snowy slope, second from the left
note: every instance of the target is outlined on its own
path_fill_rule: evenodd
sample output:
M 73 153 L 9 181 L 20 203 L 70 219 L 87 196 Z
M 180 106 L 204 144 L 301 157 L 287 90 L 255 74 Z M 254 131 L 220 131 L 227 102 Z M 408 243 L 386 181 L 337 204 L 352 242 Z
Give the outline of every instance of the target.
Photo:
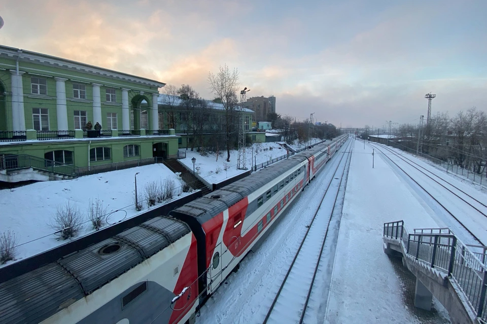
M 57 206 L 56 214 L 49 225 L 56 231 L 56 235 L 65 240 L 78 234 L 81 223 L 83 223 L 83 215 L 80 208 L 68 200 L 65 205 Z

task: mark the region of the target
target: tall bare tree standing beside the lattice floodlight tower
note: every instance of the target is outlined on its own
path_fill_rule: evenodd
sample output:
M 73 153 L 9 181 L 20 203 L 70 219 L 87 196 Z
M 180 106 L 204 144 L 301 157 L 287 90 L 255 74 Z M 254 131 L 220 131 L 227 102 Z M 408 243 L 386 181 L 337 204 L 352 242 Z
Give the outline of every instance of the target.
M 227 162 L 230 162 L 230 146 L 232 130 L 235 120 L 235 108 L 237 106 L 238 71 L 236 68 L 230 70 L 228 65 L 220 66 L 218 73 L 208 74 L 208 84 L 216 97 L 220 98 L 225 110 L 225 133 L 227 146 Z

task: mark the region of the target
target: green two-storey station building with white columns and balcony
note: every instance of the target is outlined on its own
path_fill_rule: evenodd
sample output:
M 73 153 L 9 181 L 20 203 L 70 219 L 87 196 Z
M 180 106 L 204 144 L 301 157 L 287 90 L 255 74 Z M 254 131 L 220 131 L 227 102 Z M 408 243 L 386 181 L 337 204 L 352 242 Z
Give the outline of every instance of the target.
M 59 178 L 184 156 L 178 148 L 191 141 L 195 110 L 188 111 L 179 97 L 168 109 L 167 96 L 159 94 L 164 85 L 0 46 L 0 182 L 46 179 L 37 173 L 19 177 L 22 168 L 47 170 L 49 178 Z M 221 121 L 225 111 L 221 104 L 202 101 L 198 116 L 210 134 L 211 121 Z M 253 112 L 244 109 L 242 114 L 250 131 Z

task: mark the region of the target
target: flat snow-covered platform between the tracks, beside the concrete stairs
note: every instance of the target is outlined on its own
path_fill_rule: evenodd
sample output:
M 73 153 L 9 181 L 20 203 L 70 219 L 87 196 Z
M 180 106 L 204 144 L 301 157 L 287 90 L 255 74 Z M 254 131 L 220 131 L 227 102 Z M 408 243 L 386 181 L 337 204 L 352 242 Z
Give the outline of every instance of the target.
M 372 168 L 371 153 L 356 141 L 324 322 L 420 323 L 404 304 L 401 282 L 382 249 L 382 229 L 400 220 L 410 231 L 439 226 L 429 207 L 377 154 Z

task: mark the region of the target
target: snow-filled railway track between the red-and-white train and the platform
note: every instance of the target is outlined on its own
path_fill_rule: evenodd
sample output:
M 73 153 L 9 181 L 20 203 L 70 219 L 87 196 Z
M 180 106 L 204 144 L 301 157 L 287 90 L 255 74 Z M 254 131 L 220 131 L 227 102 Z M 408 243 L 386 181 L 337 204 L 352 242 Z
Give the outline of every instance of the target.
M 353 144 L 347 144 L 263 323 L 302 323 Z

